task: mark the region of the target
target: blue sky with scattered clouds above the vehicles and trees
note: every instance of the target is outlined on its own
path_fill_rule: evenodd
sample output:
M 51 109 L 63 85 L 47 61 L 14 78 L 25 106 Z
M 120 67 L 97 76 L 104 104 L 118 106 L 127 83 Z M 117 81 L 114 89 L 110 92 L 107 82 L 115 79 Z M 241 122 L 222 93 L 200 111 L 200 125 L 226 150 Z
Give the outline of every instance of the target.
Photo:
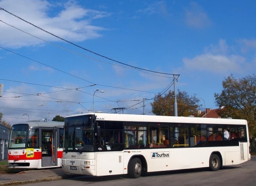
M 11 124 L 89 112 L 93 100 L 94 111 L 143 114 L 146 98 L 144 114 L 152 114 L 149 99 L 172 83 L 168 74 L 179 74 L 176 89 L 201 98 L 201 109 L 215 109 L 224 78 L 255 73 L 255 1 L 0 0 L 0 7 L 0 112 Z

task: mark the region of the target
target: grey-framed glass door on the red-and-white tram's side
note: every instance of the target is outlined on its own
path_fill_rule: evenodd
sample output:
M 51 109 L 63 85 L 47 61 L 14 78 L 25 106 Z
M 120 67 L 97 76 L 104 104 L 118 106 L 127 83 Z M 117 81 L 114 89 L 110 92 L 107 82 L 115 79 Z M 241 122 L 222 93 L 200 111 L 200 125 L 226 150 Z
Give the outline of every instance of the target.
M 56 136 L 57 130 L 41 129 L 41 153 L 42 153 L 42 167 L 51 167 L 57 165 L 56 163 Z

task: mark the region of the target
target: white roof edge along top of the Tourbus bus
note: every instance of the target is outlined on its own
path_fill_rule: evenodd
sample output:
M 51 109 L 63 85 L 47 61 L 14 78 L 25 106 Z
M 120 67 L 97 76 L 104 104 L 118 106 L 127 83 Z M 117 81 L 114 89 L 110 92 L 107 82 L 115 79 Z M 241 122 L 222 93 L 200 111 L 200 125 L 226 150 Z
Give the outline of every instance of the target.
M 227 124 L 227 125 L 246 125 L 247 121 L 243 119 L 219 119 L 205 117 L 176 117 L 164 115 L 135 115 L 135 114 L 107 114 L 107 113 L 85 113 L 68 115 L 68 117 L 76 117 L 79 115 L 96 115 L 96 121 L 110 120 L 122 122 L 172 122 L 172 123 L 202 123 L 202 124 Z

